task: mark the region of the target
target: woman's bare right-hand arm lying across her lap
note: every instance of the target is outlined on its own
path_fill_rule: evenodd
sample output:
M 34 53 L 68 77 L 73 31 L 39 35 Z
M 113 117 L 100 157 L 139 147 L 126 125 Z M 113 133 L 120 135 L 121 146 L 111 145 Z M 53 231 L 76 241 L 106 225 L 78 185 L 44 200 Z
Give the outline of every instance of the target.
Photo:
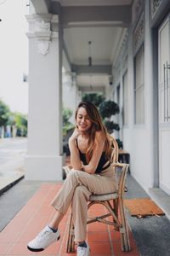
M 93 174 L 99 164 L 99 159 L 104 150 L 105 140 L 101 131 L 97 131 L 94 141 L 94 152 L 87 166 L 82 166 L 84 172 Z

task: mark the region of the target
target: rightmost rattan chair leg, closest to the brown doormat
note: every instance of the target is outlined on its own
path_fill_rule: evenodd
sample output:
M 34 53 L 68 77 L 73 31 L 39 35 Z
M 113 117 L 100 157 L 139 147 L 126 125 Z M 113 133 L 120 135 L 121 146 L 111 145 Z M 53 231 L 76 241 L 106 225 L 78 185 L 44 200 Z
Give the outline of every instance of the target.
M 122 227 L 120 228 L 121 246 L 122 246 L 122 251 L 128 252 L 130 251 L 130 242 L 128 237 L 127 220 L 125 216 L 125 210 L 124 210 L 122 198 L 120 198 L 119 206 L 120 206 L 120 218 L 122 223 Z

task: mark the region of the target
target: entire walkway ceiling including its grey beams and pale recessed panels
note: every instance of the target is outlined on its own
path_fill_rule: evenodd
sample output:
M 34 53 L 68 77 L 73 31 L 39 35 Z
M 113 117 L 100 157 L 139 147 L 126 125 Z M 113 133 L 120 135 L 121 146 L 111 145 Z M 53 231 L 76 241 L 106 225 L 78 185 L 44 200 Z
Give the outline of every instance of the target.
M 112 63 L 122 44 L 123 35 L 131 23 L 133 0 L 31 1 L 37 12 L 38 9 L 43 11 L 41 1 L 47 6 L 48 12 L 61 12 L 64 66 L 67 70 L 69 63 L 70 71 L 77 73 L 78 87 L 82 91 L 103 91 L 105 86 L 110 86 Z M 89 56 L 92 58 L 90 67 Z

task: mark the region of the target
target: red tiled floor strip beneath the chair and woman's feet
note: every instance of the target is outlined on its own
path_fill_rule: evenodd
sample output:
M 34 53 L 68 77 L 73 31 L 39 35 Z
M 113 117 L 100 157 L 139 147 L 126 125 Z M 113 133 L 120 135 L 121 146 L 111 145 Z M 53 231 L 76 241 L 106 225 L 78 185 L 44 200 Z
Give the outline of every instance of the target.
M 57 191 L 62 184 L 44 183 L 26 206 L 11 220 L 6 228 L 0 233 L 0 255 L 44 255 L 44 256 L 76 256 L 75 253 L 66 253 L 66 240 L 68 233 L 69 212 L 59 225 L 61 238 L 41 253 L 31 253 L 27 250 L 27 242 L 37 235 L 42 227 L 48 223 L 55 210 L 50 206 Z M 91 207 L 90 215 L 95 212 L 104 213 L 102 206 Z M 91 247 L 91 256 L 137 256 L 138 248 L 130 232 L 132 250 L 123 253 L 121 250 L 120 234 L 111 226 L 105 224 L 88 224 L 88 243 Z

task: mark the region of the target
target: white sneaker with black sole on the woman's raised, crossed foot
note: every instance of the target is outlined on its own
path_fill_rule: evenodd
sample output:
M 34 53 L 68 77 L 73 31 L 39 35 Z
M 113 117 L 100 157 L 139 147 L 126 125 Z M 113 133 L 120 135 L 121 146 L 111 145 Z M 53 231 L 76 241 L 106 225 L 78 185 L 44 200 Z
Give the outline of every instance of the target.
M 31 252 L 41 252 L 45 248 L 47 248 L 50 244 L 54 243 L 54 241 L 58 241 L 60 238 L 59 230 L 56 233 L 53 230 L 49 229 L 46 226 L 32 241 L 30 241 L 27 245 L 27 248 Z

